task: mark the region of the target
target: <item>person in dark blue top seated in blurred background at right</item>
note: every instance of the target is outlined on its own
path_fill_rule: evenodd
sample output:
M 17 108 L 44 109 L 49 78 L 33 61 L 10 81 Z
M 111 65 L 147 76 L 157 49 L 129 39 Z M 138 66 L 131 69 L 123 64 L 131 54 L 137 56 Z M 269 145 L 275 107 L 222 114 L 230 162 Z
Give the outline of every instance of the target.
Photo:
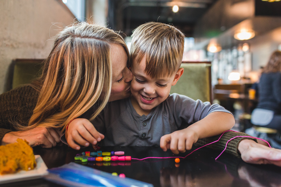
M 252 112 L 251 122 L 260 127 L 281 132 L 281 51 L 274 51 L 263 68 L 258 84 L 259 102 Z M 281 148 L 273 137 L 259 133 L 254 128 L 247 129 L 252 136 L 264 138 L 275 148 Z M 281 141 L 281 139 L 279 138 Z M 280 142 L 281 143 L 281 142 Z

